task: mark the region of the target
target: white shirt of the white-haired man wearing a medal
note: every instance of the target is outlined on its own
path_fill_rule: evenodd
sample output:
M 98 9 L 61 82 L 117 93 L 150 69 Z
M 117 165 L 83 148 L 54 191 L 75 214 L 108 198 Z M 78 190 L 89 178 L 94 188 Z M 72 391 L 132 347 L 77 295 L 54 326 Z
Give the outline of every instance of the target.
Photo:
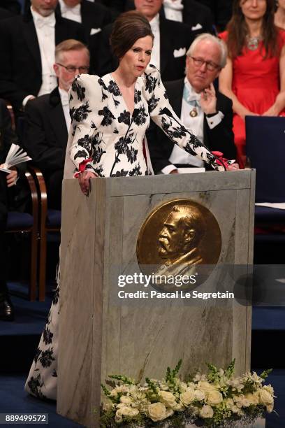
M 190 111 L 193 110 L 194 106 L 189 104 L 191 101 L 196 101 L 198 106 L 195 107 L 198 115 L 196 117 L 190 116 Z M 217 115 L 212 117 L 206 117 L 207 124 L 210 129 L 214 128 L 223 120 L 224 114 L 219 111 Z M 191 132 L 199 138 L 202 143 L 204 142 L 204 132 L 203 132 L 203 123 L 204 123 L 204 113 L 202 108 L 200 107 L 200 94 L 193 90 L 193 87 L 189 83 L 189 80 L 185 78 L 184 80 L 184 90 L 183 90 L 183 99 L 182 99 L 182 108 L 180 119 L 182 123 L 191 130 Z M 173 151 L 169 157 L 169 162 L 171 165 L 165 166 L 161 172 L 163 174 L 169 174 L 171 171 L 177 169 L 175 164 L 186 164 L 190 166 L 204 166 L 204 162 L 196 156 L 192 156 L 189 153 L 185 152 L 182 148 L 178 147 L 178 145 L 174 145 Z

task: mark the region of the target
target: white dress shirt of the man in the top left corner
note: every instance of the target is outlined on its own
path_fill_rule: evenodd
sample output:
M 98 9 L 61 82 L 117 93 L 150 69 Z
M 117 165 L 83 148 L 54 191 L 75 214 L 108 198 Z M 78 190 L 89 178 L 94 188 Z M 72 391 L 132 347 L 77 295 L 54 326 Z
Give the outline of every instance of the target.
M 55 15 L 52 13 L 47 17 L 41 16 L 31 7 L 36 35 L 38 36 L 38 45 L 41 52 L 42 66 L 42 85 L 38 92 L 38 97 L 44 94 L 50 94 L 54 87 L 57 87 L 57 76 L 55 76 L 53 64 L 55 49 Z

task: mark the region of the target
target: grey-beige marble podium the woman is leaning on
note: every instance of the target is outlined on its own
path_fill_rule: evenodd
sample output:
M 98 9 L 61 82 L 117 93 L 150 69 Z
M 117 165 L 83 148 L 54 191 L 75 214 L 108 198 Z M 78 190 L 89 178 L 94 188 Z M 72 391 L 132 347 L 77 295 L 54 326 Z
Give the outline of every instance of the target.
M 237 374 L 249 370 L 250 301 L 131 304 L 114 295 L 120 274 L 140 272 L 136 248 L 145 218 L 175 199 L 214 215 L 221 230 L 217 266 L 250 265 L 255 172 L 96 178 L 91 186 L 85 197 L 77 180 L 64 180 L 57 412 L 98 427 L 101 383 L 109 374 L 161 378 L 180 358 L 182 377 L 205 372 L 205 362 L 226 366 L 233 358 Z M 228 278 L 214 271 L 200 290 L 217 280 Z

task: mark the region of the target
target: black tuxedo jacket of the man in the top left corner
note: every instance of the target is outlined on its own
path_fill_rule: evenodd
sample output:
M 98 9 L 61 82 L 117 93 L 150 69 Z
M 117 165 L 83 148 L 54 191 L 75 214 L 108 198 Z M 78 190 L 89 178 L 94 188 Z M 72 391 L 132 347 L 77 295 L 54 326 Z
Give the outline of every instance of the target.
M 56 14 L 55 44 L 66 38 L 85 42 L 81 24 Z M 0 22 L 0 97 L 7 99 L 16 111 L 27 95 L 41 88 L 41 53 L 31 11 Z

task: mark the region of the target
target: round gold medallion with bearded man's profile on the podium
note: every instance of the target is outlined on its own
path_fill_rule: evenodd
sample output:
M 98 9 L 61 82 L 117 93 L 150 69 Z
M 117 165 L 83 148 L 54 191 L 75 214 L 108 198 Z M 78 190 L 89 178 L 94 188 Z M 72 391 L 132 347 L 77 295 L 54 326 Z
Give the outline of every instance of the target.
M 219 260 L 221 230 L 205 206 L 175 199 L 155 208 L 140 228 L 137 258 L 142 273 L 154 273 L 152 286 L 163 291 L 189 291 L 203 283 Z M 190 278 L 177 287 L 170 278 Z

